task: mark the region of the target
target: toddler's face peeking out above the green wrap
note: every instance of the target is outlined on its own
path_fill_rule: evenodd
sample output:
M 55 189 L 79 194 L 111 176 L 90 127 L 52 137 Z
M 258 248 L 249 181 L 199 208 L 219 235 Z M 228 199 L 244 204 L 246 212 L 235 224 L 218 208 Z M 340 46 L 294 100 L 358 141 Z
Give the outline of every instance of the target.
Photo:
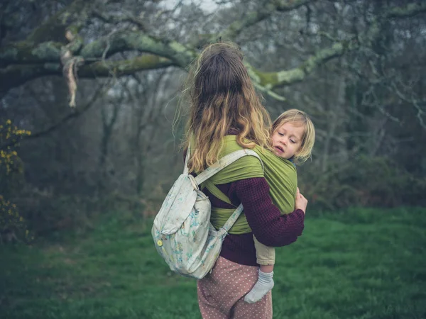
M 272 145 L 275 154 L 279 157 L 289 159 L 302 146 L 302 137 L 305 125 L 297 122 L 287 122 L 278 126 L 272 135 Z

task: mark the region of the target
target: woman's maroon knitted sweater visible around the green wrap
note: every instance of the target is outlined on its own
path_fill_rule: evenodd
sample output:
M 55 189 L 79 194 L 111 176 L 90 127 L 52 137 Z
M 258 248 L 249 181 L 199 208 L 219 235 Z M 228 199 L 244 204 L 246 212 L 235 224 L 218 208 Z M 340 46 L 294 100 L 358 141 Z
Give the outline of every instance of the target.
M 265 178 L 254 177 L 241 179 L 229 184 L 217 185 L 222 193 L 229 197 L 231 203 L 244 206 L 244 213 L 253 233 L 242 235 L 226 235 L 220 255 L 231 262 L 258 266 L 253 235 L 263 245 L 280 247 L 290 245 L 302 235 L 305 213 L 297 209 L 288 215 L 281 215 L 280 210 L 273 205 L 269 195 L 269 185 Z M 224 203 L 203 189 L 209 196 L 212 206 L 219 208 L 234 208 Z

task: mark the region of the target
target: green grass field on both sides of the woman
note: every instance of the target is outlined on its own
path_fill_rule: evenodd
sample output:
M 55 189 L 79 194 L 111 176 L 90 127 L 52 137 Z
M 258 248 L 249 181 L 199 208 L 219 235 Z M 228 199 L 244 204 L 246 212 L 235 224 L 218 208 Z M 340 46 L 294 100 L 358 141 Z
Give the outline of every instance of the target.
M 277 249 L 274 318 L 426 318 L 425 208 L 307 216 Z M 149 226 L 105 218 L 55 243 L 0 246 L 0 318 L 200 318 Z

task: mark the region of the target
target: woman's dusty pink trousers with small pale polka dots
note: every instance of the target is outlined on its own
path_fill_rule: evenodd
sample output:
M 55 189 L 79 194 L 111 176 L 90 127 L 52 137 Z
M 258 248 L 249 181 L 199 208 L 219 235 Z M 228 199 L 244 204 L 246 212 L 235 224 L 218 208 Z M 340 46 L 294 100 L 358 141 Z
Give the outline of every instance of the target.
M 258 267 L 236 264 L 219 257 L 212 273 L 197 283 L 203 319 L 272 319 L 271 291 L 257 303 L 244 296 L 258 279 Z

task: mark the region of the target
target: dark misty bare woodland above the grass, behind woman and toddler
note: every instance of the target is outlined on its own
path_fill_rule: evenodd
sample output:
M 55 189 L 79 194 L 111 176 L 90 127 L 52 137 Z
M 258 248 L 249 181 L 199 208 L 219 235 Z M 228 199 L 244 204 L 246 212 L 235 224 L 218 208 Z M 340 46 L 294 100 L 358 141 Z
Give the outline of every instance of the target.
M 272 118 L 312 116 L 315 150 L 299 169 L 310 207 L 425 206 L 425 1 L 26 0 L 0 10 L 0 194 L 36 233 L 116 205 L 155 213 L 182 169 L 187 66 L 218 39 L 241 46 Z

